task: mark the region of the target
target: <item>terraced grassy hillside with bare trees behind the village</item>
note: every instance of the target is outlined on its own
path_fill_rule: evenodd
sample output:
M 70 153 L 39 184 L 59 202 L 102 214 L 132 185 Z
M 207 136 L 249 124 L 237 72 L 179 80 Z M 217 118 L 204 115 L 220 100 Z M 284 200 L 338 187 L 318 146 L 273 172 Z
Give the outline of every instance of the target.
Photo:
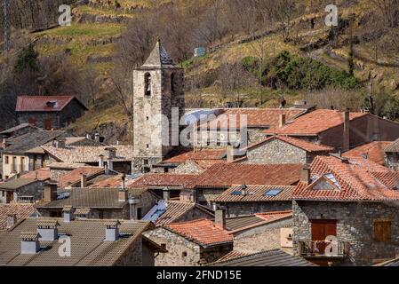
M 54 28 L 68 3 L 72 26 Z M 399 119 L 399 0 L 335 3 L 337 27 L 324 23 L 324 0 L 12 1 L 12 51 L 0 54 L 10 119 L 0 128 L 20 93 L 71 93 L 91 109 L 71 130 L 128 139 L 132 68 L 157 37 L 186 69 L 189 107 L 283 97 Z M 207 52 L 194 58 L 199 46 Z

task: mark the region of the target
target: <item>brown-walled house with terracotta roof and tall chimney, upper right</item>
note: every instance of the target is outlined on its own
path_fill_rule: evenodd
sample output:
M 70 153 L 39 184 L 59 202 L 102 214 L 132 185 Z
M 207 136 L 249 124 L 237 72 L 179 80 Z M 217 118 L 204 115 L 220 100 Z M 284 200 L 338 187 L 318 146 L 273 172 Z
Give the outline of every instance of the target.
M 399 123 L 368 113 L 318 109 L 291 123 L 265 130 L 265 134 L 300 138 L 345 152 L 372 141 L 394 141 L 399 137 Z

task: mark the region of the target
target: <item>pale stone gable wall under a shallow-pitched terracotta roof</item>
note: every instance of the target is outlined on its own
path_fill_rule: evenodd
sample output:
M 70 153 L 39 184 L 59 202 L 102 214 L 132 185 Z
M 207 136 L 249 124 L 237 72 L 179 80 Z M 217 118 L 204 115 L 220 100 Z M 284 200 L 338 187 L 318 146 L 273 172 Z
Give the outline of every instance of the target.
M 247 151 L 245 163 L 310 163 L 316 155 L 328 155 L 328 152 L 311 153 L 279 139 L 272 139 Z

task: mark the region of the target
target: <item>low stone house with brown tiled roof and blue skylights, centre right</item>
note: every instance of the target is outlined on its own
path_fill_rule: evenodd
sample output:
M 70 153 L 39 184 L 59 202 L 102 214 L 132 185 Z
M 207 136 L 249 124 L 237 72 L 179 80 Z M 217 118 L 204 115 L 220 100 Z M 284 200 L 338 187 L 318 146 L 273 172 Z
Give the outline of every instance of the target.
M 227 217 L 284 211 L 292 207 L 293 185 L 234 185 L 212 200 L 226 209 Z

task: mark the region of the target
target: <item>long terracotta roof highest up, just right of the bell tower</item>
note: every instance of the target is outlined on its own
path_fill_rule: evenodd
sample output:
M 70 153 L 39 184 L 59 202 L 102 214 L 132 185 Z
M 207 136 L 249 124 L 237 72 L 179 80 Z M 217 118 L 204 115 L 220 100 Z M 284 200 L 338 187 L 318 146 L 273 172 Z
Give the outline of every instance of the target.
M 307 109 L 301 108 L 225 108 L 220 110 L 216 120 L 204 122 L 201 125 L 208 125 L 208 127 L 218 129 L 235 125 L 240 128 L 241 115 L 246 115 L 248 127 L 267 128 L 278 125 L 280 114 L 285 114 L 286 120 L 291 121 L 306 113 Z M 231 121 L 230 117 L 232 118 Z

